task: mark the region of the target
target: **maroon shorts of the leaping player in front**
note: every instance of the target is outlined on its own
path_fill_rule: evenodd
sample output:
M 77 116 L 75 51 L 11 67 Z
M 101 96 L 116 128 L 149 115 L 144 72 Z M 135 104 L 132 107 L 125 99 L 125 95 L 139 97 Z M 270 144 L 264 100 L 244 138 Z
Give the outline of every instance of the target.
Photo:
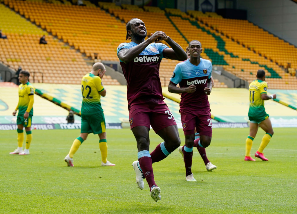
M 128 110 L 131 129 L 136 126 L 146 126 L 158 132 L 168 126 L 176 125 L 168 106 L 159 97 L 140 97 L 132 101 Z

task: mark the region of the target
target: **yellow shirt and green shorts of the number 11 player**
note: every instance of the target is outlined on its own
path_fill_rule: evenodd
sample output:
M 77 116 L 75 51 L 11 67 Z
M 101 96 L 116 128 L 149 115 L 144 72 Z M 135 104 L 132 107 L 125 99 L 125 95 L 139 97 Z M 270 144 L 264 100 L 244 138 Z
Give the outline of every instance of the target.
M 249 119 L 259 121 L 264 120 L 266 116 L 264 100 L 261 99 L 261 94 L 267 94 L 268 84 L 262 80 L 254 80 L 249 84 Z M 263 119 L 264 117 L 264 119 Z

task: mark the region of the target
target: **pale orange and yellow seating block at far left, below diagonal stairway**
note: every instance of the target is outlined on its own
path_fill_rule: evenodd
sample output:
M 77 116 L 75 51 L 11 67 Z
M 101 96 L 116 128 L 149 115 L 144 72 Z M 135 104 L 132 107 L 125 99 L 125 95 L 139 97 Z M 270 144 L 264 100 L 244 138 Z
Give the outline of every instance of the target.
M 82 54 L 37 27 L 35 24 L 40 23 L 24 13 L 22 7 L 18 7 L 19 2 L 3 1 L 3 3 L 9 8 L 0 4 L 0 26 L 8 39 L 0 40 L 2 50 L 0 60 L 14 69 L 21 66 L 22 69 L 29 71 L 33 77 L 32 82 L 34 79 L 34 82 L 80 84 L 82 76 L 91 71 L 91 66 L 86 64 Z M 24 4 L 43 3 L 27 2 Z M 56 6 L 59 7 L 59 5 Z M 33 8 L 32 6 L 28 10 L 34 11 Z M 48 44 L 39 44 L 42 35 L 46 35 Z M 104 77 L 104 84 L 120 85 L 116 79 L 108 75 Z

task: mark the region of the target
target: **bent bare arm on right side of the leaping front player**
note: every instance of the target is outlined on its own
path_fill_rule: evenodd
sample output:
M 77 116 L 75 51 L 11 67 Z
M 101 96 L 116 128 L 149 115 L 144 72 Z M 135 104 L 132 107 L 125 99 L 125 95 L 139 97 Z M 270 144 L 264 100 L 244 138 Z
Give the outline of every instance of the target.
M 171 49 L 167 48 L 164 50 L 165 57 L 170 60 L 178 60 L 178 61 L 184 61 L 187 60 L 188 56 L 184 49 L 176 43 L 173 39 L 168 37 L 166 40 L 168 45 L 170 45 Z

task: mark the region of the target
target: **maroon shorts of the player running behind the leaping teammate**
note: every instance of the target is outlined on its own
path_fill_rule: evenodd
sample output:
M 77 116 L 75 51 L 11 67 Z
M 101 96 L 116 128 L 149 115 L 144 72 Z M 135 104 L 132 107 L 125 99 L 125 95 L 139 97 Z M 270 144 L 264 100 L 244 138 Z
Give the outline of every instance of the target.
M 185 135 L 195 134 L 194 129 L 201 135 L 212 136 L 210 111 L 181 111 L 181 124 Z

